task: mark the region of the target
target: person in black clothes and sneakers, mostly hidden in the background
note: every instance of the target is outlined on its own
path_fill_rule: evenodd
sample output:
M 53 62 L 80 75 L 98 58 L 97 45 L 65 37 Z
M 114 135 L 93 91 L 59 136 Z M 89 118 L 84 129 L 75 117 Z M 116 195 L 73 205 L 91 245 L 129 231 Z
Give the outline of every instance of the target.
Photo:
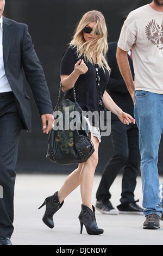
M 126 20 L 124 16 L 122 23 Z M 126 87 L 116 60 L 117 41 L 110 42 L 107 54 L 111 68 L 107 90 L 118 106 L 133 116 L 134 104 Z M 131 52 L 128 53 L 129 65 L 134 81 L 134 69 Z M 136 177 L 140 166 L 139 130 L 136 124 L 124 125 L 115 114 L 111 113 L 111 139 L 114 155 L 106 164 L 102 179 L 96 193 L 96 209 L 103 214 L 142 214 L 142 209 L 134 199 Z M 112 183 L 123 168 L 121 204 L 114 209 L 110 202 L 109 192 Z

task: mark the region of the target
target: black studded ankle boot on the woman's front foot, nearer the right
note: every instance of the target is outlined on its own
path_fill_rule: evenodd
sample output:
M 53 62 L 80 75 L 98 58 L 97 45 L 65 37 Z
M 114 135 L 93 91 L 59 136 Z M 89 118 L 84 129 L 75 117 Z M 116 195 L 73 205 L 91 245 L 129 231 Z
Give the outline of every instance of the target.
M 83 224 L 85 225 L 87 234 L 89 235 L 101 235 L 104 233 L 102 228 L 97 227 L 96 217 L 95 217 L 95 207 L 92 205 L 93 211 L 82 204 L 82 211 L 79 214 L 80 221 L 80 234 L 83 231 Z

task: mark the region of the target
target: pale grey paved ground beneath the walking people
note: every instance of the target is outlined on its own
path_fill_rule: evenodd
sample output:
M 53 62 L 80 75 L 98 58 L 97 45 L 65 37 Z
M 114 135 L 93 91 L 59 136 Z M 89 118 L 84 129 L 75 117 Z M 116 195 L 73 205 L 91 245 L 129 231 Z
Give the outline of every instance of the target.
M 45 208 L 37 208 L 45 197 L 57 191 L 65 175 L 18 174 L 15 190 L 15 231 L 12 235 L 14 245 L 163 245 L 163 222 L 160 230 L 144 230 L 143 216 L 136 215 L 102 215 L 96 212 L 99 227 L 104 234 L 87 235 L 84 228 L 79 234 L 80 190 L 77 188 L 65 200 L 62 209 L 55 214 L 55 227 L 49 229 L 41 218 Z M 95 176 L 93 187 L 93 204 L 96 202 L 96 190 L 101 176 Z M 121 194 L 121 176 L 111 187 L 112 204 L 119 204 Z M 162 178 L 160 178 L 160 182 Z M 137 179 L 135 199 L 142 203 L 141 180 Z

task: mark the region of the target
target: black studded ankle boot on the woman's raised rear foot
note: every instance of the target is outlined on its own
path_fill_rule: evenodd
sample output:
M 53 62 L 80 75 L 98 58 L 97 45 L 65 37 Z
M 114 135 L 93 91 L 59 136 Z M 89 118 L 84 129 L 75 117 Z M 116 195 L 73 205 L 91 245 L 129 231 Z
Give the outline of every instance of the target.
M 43 204 L 39 207 L 46 205 L 45 214 L 42 217 L 42 221 L 49 227 L 54 228 L 53 215 L 57 212 L 61 206 L 64 204 L 64 201 L 60 204 L 58 199 L 58 191 L 53 194 L 53 196 L 47 197 Z

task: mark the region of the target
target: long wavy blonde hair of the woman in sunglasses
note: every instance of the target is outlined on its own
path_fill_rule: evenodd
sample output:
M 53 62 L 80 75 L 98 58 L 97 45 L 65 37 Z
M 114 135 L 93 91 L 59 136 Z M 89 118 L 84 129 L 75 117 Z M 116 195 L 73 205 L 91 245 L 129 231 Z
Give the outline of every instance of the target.
M 91 41 L 85 41 L 83 37 L 83 29 L 90 23 L 96 22 L 93 28 L 92 34 L 95 35 L 99 32 L 97 38 Z M 108 63 L 106 62 L 106 52 L 108 51 L 108 41 L 107 41 L 107 28 L 105 23 L 105 18 L 100 11 L 92 10 L 85 13 L 78 23 L 76 31 L 74 33 L 73 39 L 70 45 L 77 47 L 77 55 L 80 58 L 84 55 L 85 60 L 93 64 L 92 55 L 96 53 L 97 64 L 104 71 L 105 69 L 110 72 Z M 104 69 L 105 68 L 105 69 Z

